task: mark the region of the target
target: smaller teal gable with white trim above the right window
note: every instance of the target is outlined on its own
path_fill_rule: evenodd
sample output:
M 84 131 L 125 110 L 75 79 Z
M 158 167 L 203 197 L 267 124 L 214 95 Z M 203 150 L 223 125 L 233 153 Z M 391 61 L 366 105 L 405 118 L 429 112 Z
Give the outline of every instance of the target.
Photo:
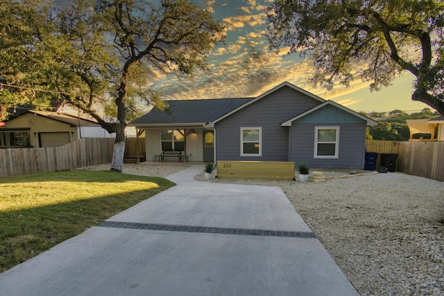
M 332 112 L 332 108 L 336 109 L 338 112 Z M 326 123 L 329 122 L 341 122 L 341 123 L 354 123 L 358 121 L 366 121 L 367 125 L 377 125 L 377 121 L 369 119 L 368 117 L 359 114 L 355 111 L 339 105 L 334 101 L 325 101 L 321 105 L 318 105 L 306 112 L 302 112 L 293 118 L 281 123 L 282 126 L 291 126 L 293 121 L 311 123 L 313 120 L 316 123 Z

